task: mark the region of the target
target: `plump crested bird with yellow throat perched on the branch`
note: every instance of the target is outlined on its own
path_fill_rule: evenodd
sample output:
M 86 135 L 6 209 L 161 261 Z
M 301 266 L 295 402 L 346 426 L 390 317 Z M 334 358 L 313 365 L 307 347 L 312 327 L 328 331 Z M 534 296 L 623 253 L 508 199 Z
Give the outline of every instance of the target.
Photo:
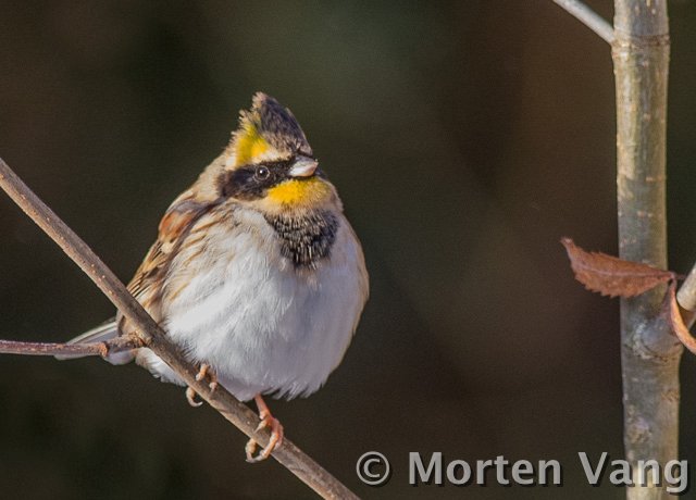
M 240 401 L 253 399 L 271 438 L 284 429 L 263 396 L 316 391 L 338 366 L 369 297 L 361 243 L 293 113 L 257 92 L 223 152 L 164 213 L 128 291 L 188 361 Z M 133 335 L 121 313 L 69 343 Z M 63 355 L 61 359 L 75 358 Z M 185 382 L 148 348 L 114 351 L 162 382 Z M 196 393 L 187 389 L 194 405 Z

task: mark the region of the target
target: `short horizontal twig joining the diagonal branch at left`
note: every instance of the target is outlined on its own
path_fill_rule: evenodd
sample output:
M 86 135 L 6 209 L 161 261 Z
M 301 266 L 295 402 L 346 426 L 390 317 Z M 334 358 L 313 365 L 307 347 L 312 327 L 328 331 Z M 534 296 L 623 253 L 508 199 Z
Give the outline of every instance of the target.
M 94 343 L 51 343 L 21 342 L 17 340 L 0 340 L 0 354 L 23 355 L 100 355 L 105 358 L 110 352 L 142 347 L 137 338 L 116 337 L 104 342 Z

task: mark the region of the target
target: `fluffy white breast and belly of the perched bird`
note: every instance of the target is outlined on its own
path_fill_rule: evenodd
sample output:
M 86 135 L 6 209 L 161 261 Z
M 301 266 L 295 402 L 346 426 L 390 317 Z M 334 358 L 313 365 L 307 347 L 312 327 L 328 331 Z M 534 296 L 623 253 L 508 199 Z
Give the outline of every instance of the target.
M 234 226 L 208 226 L 204 240 L 174 259 L 162 325 L 240 400 L 309 395 L 340 362 L 364 305 L 360 245 L 340 215 L 330 258 L 315 270 L 296 270 L 261 214 L 236 210 L 234 218 Z M 151 352 L 138 362 L 181 383 Z

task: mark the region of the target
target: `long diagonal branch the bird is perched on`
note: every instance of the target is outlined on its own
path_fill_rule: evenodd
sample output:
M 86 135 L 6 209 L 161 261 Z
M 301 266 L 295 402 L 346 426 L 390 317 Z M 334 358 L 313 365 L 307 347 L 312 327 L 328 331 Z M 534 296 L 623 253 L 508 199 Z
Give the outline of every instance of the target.
M 128 292 L 119 278 L 91 249 L 61 221 L 0 159 L 0 187 L 61 249 L 95 282 L 107 298 L 136 326 L 137 335 L 189 387 L 217 410 L 227 421 L 259 445 L 269 442 L 269 429 L 257 430 L 259 417 L 246 404 L 217 386 L 211 390 L 207 380 L 197 380 L 196 370 L 169 341 L 166 334 Z M 288 439 L 273 451 L 273 457 L 323 498 L 357 499 L 348 488 Z

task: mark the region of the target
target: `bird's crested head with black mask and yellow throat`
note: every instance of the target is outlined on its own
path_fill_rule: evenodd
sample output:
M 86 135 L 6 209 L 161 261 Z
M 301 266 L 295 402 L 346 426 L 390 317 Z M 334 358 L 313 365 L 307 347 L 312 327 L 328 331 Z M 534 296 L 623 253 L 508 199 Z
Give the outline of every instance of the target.
M 220 192 L 266 212 L 339 204 L 293 113 L 265 93 L 243 111 L 227 147 Z

